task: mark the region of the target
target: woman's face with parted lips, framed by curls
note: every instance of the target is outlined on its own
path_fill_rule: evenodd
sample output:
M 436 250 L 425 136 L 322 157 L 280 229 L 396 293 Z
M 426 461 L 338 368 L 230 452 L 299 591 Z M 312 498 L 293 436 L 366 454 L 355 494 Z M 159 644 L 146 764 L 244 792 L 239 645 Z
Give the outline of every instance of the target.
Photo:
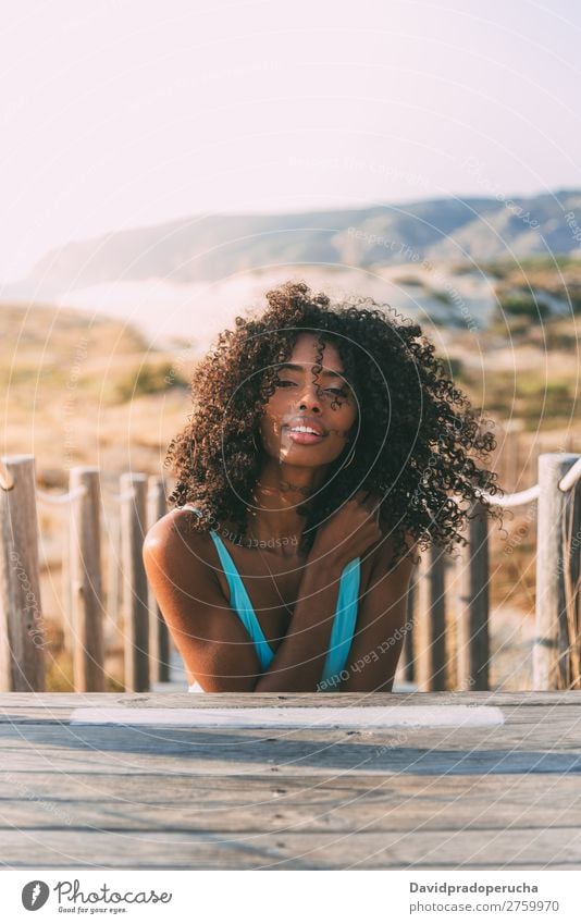
M 260 436 L 264 451 L 277 461 L 318 467 L 334 461 L 354 435 L 355 393 L 343 378 L 343 361 L 333 343 L 321 346 L 316 334 L 300 334 L 292 356 L 277 367 L 280 383 L 264 408 Z M 317 368 L 317 375 L 312 367 Z M 292 368 L 289 368 L 292 367 Z M 300 432 L 314 429 L 319 434 Z

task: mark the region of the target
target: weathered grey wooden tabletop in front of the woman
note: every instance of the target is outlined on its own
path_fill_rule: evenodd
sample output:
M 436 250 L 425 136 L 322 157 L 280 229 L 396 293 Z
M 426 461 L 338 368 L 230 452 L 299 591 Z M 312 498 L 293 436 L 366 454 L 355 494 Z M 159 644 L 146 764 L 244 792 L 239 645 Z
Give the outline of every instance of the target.
M 581 868 L 579 691 L 3 693 L 0 727 L 4 868 Z

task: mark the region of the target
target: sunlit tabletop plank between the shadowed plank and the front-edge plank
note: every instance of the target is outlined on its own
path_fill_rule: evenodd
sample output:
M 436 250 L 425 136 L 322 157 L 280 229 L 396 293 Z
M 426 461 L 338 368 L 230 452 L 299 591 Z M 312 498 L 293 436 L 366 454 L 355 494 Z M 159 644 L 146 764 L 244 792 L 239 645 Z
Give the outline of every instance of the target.
M 554 777 L 531 779 L 527 799 L 519 792 L 521 780 L 504 777 L 502 784 L 480 787 L 478 778 L 461 777 L 455 789 L 440 791 L 435 777 L 413 777 L 412 787 L 398 791 L 385 779 L 359 789 L 313 788 L 310 779 L 289 779 L 284 787 L 268 787 L 261 779 L 251 785 L 234 780 L 224 788 L 218 779 L 210 786 L 183 786 L 183 801 L 175 799 L 172 781 L 159 777 L 157 801 L 141 802 L 143 790 L 133 787 L 120 796 L 114 789 L 94 791 L 85 798 L 67 797 L 61 786 L 58 798 L 28 783 L 12 787 L 17 798 L 0 802 L 0 829 L 74 827 L 94 830 L 180 831 L 395 831 L 395 830 L 505 830 L 548 827 L 581 829 L 579 781 L 563 786 Z M 149 789 L 149 778 L 141 785 Z M 533 785 L 534 784 L 534 785 Z M 281 794 L 284 789 L 284 794 Z

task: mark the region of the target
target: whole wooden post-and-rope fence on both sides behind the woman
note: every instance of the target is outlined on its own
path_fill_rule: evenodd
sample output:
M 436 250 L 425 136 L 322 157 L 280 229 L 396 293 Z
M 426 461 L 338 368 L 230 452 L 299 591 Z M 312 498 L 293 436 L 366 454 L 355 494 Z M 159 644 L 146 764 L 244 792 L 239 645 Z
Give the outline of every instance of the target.
M 533 689 L 580 689 L 581 457 L 543 454 L 537 483 L 509 495 L 503 506 L 537 503 L 536 637 Z M 115 611 L 121 576 L 125 690 L 144 692 L 168 681 L 170 640 L 152 597 L 143 563 L 149 527 L 165 513 L 159 477 L 124 473 L 120 481 L 119 532 L 112 539 L 121 556 L 110 562 L 109 594 Z M 101 572 L 101 489 L 99 470 L 75 467 L 60 497 L 38 491 L 33 456 L 2 459 L 0 467 L 0 690 L 45 690 L 45 626 L 40 600 L 37 500 L 69 505 L 65 638 L 72 652 L 77 691 L 104 690 L 107 639 Z M 496 500 L 492 498 L 493 501 Z M 469 520 L 468 546 L 455 559 L 436 547 L 422 554 L 408 594 L 403 672 L 423 691 L 449 689 L 450 651 L 456 689 L 490 688 L 489 527 L 480 504 Z M 447 629 L 447 607 L 456 612 L 456 638 Z M 118 620 L 119 621 L 119 620 Z M 454 644 L 452 644 L 454 642 Z

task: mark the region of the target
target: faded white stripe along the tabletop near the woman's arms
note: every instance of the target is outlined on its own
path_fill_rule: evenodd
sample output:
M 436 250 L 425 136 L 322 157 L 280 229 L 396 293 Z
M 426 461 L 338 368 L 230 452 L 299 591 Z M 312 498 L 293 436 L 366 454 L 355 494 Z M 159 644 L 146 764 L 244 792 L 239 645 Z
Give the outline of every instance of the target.
M 183 725 L 191 728 L 390 728 L 504 724 L 497 706 L 260 706 L 254 709 L 76 709 L 71 725 Z

